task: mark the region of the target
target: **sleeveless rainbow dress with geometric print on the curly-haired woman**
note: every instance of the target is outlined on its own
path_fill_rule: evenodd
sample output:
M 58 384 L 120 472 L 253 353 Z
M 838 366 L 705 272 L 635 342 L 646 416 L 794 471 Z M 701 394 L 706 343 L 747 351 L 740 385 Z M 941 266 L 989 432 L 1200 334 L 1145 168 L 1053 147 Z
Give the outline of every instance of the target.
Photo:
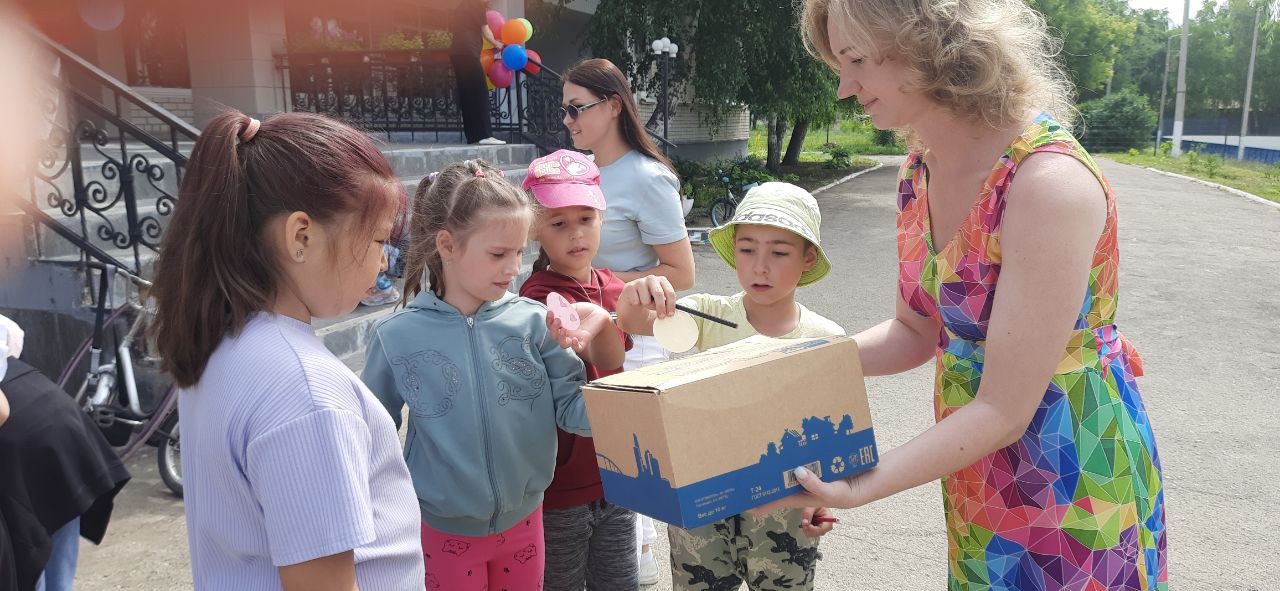
M 1093 159 L 1047 114 L 1005 151 L 941 252 L 929 232 L 924 161 L 911 155 L 902 166 L 899 289 L 918 313 L 942 321 L 934 414 L 941 421 L 978 393 L 1005 194 L 1033 152 L 1088 166 L 1106 191 L 1107 220 L 1075 330 L 1027 432 L 942 480 L 948 588 L 1165 590 L 1160 458 L 1134 384 L 1142 362 L 1114 324 L 1115 196 Z

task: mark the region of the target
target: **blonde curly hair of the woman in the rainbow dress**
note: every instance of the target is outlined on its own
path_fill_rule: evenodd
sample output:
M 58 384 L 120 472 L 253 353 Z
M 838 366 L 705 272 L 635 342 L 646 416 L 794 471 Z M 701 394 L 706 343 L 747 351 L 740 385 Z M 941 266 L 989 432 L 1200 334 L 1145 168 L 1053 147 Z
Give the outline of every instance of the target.
M 1057 60 L 1062 43 L 1024 0 L 805 0 L 805 46 L 838 72 L 831 17 L 856 51 L 900 59 L 916 74 L 904 92 L 956 115 L 1004 127 L 1047 111 L 1068 128 L 1075 116 L 1074 86 Z

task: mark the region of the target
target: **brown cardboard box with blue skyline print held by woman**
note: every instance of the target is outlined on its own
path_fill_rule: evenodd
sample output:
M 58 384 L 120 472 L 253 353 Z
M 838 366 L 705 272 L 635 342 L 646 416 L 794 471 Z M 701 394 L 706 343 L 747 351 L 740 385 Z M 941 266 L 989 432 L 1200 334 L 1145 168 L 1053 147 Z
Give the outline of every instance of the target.
M 604 496 L 696 527 L 879 458 L 858 344 L 753 336 L 588 384 Z

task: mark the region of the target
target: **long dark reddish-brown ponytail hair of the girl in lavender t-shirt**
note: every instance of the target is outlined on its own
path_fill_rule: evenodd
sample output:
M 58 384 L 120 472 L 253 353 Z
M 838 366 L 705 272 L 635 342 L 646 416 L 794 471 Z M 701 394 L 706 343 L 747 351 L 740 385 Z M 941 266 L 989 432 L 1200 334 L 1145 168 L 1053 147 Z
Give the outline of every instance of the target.
M 279 255 L 262 237 L 266 224 L 293 211 L 320 224 L 352 214 L 348 235 L 370 235 L 403 202 L 369 136 L 302 113 L 255 127 L 236 111 L 209 122 L 164 234 L 154 331 L 163 368 L 179 386 L 200 381 L 223 336 L 275 297 Z

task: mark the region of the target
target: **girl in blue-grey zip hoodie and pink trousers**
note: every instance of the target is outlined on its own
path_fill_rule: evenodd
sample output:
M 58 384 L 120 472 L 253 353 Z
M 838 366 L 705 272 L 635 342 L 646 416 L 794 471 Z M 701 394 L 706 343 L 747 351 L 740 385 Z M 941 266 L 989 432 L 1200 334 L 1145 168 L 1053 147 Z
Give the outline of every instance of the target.
M 374 327 L 364 380 L 397 429 L 408 406 L 404 461 L 422 513 L 426 587 L 539 588 L 556 427 L 591 435 L 582 361 L 568 349 L 621 358 L 622 343 L 598 306 L 576 304 L 581 325 L 570 331 L 507 292 L 532 210 L 499 170 L 454 164 L 417 193 L 411 301 Z M 595 339 L 602 333 L 611 338 Z

